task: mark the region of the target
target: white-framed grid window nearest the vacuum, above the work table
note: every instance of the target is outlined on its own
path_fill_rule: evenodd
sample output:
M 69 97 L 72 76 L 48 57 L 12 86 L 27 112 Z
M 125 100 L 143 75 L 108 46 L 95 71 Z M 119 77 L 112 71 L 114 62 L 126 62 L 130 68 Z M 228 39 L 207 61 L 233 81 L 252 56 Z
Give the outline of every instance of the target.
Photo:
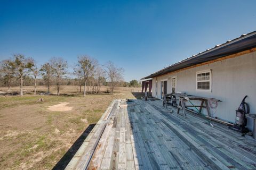
M 196 72 L 196 89 L 211 91 L 211 70 Z

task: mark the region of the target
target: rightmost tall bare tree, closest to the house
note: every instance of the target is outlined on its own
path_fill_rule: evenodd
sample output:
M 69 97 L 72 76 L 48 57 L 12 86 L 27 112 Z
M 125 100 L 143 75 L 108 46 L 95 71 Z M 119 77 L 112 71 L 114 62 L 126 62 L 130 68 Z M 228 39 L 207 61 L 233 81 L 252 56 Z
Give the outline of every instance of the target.
M 111 82 L 111 94 L 113 94 L 116 84 L 123 80 L 124 70 L 121 67 L 117 67 L 113 62 L 108 61 L 105 64 L 105 71 L 108 74 L 108 78 Z

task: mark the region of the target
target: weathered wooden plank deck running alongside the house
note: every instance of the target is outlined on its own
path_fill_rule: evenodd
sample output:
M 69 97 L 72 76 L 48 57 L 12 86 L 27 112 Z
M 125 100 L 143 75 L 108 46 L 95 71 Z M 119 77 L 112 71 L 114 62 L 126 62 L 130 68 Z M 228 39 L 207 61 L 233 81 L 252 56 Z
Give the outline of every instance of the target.
M 161 100 L 114 100 L 66 169 L 256 169 L 256 142 Z

